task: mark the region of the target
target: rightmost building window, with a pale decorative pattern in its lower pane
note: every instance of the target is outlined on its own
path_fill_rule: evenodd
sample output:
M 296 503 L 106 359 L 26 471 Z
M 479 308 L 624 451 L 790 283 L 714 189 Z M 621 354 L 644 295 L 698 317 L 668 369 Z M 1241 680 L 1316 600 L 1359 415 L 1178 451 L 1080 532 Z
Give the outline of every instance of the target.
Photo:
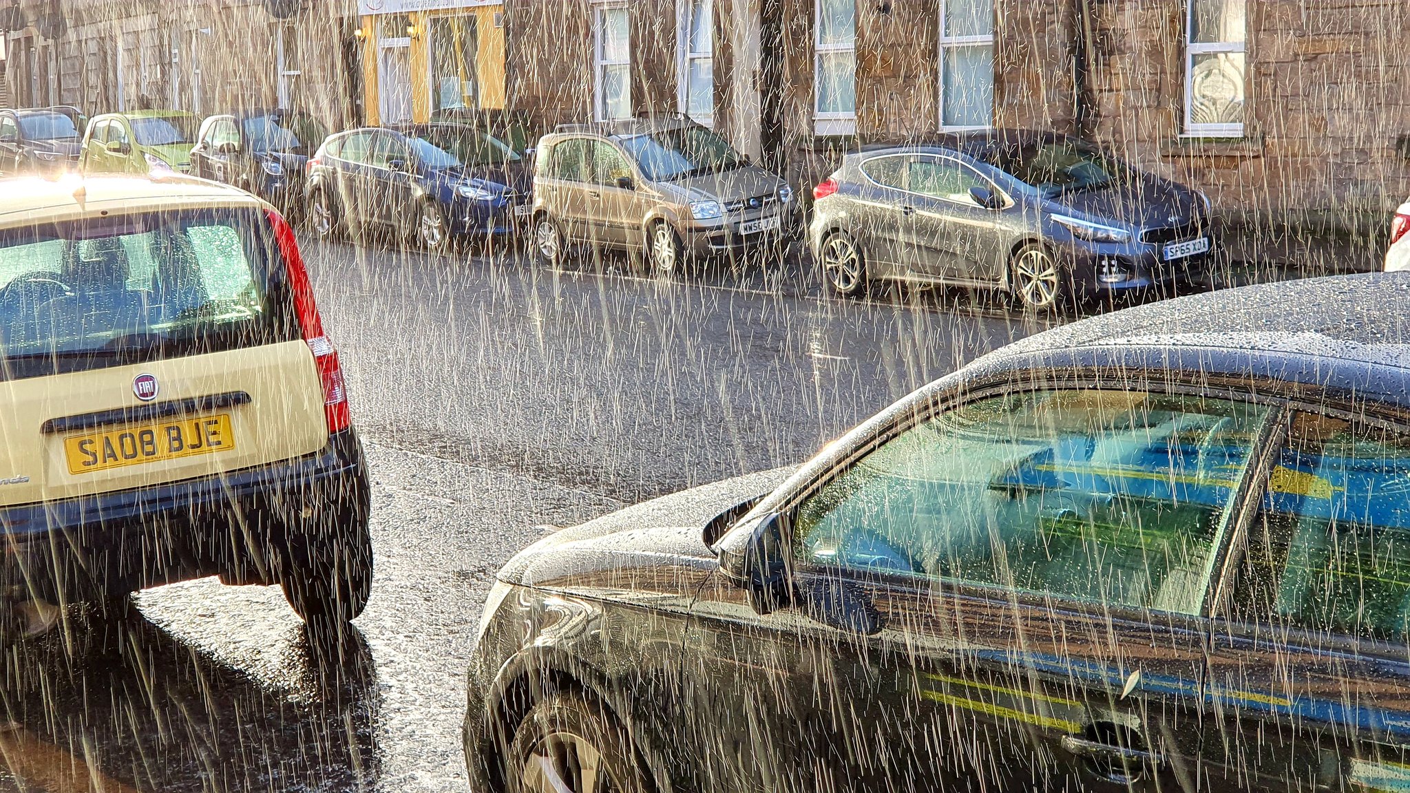
M 1245 0 L 1189 0 L 1184 134 L 1241 137 L 1245 100 Z

